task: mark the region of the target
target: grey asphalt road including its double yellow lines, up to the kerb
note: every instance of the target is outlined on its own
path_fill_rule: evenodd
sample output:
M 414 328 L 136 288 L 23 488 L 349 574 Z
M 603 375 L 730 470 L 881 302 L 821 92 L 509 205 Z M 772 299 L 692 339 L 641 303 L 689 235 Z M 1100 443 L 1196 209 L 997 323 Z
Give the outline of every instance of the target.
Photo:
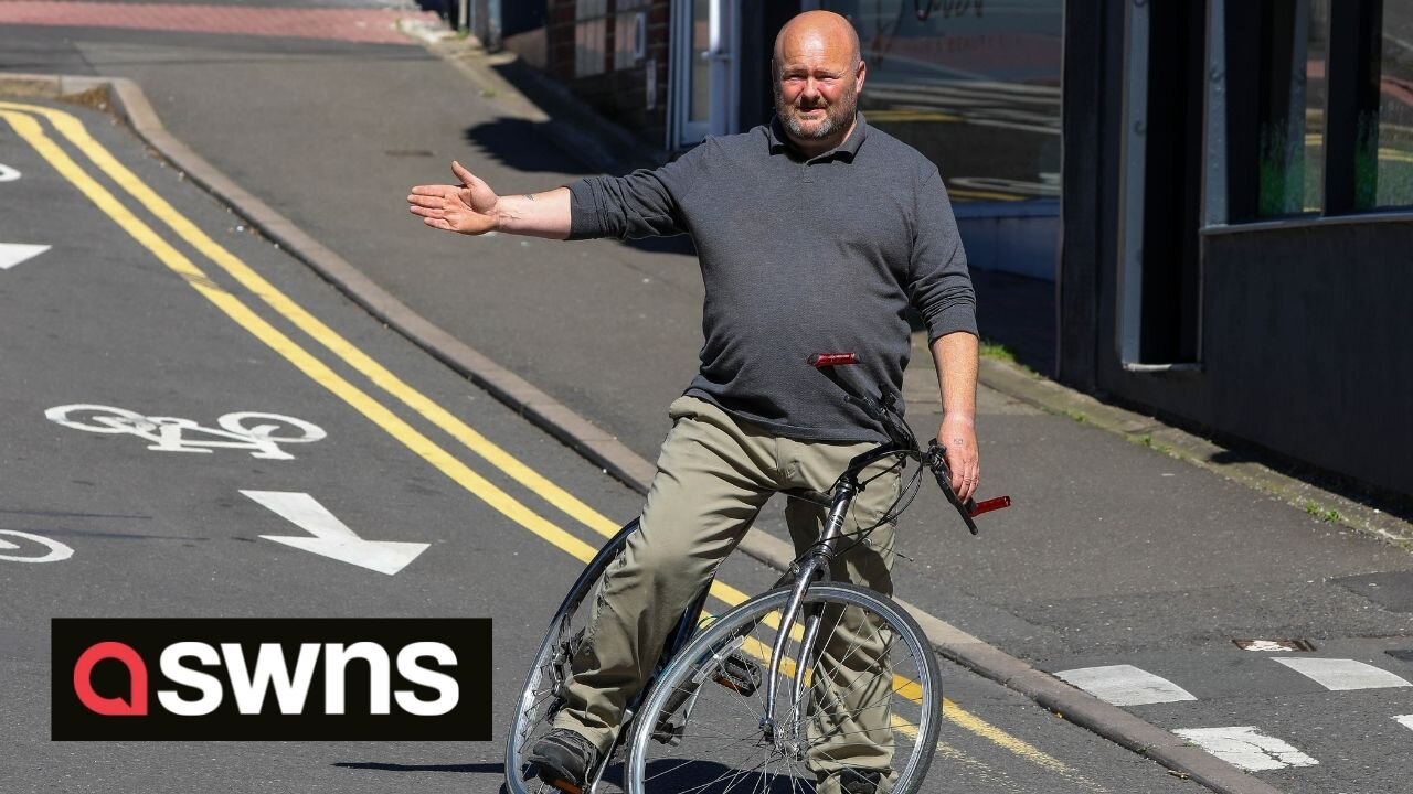
M 495 790 L 521 664 L 575 554 L 601 540 L 588 524 L 606 531 L 639 497 L 243 229 L 107 116 L 55 107 L 95 143 L 0 106 L 0 162 L 14 177 L 0 182 L 0 243 L 49 246 L 0 270 L 6 791 Z M 122 185 L 137 196 L 88 158 L 100 150 L 131 171 Z M 168 206 L 141 205 L 143 186 Z M 185 235 L 167 223 L 181 219 Z M 123 411 L 191 424 L 161 442 L 96 418 Z M 295 420 L 244 420 L 280 424 L 278 452 L 201 429 L 252 411 Z M 236 445 L 202 446 L 213 439 Z M 552 486 L 517 482 L 507 459 L 473 451 L 486 444 Z M 270 541 L 304 530 L 247 490 L 304 493 L 365 540 L 428 548 L 386 574 Z M 568 514 L 568 494 L 586 521 Z M 47 547 L 72 555 L 32 561 Z M 747 592 L 770 579 L 746 558 L 722 574 Z M 68 684 L 49 674 L 52 617 L 490 617 L 497 732 L 51 742 L 49 694 Z M 924 790 L 1198 790 L 1009 689 L 951 665 L 944 675 L 958 708 Z

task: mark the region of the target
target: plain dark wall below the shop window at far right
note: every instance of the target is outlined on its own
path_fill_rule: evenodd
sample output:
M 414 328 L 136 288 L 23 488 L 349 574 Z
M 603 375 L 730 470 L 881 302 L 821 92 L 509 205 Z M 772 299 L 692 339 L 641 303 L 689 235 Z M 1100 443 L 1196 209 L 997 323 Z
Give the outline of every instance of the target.
M 1123 372 L 1111 328 L 1099 387 L 1413 494 L 1413 220 L 1208 233 L 1202 249 L 1202 369 Z

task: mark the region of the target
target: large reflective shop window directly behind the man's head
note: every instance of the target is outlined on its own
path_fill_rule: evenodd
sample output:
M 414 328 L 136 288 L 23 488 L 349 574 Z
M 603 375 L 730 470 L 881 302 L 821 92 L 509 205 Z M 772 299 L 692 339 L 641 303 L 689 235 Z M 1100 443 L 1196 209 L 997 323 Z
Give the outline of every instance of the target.
M 873 124 L 938 165 L 955 202 L 1060 195 L 1061 0 L 842 0 Z

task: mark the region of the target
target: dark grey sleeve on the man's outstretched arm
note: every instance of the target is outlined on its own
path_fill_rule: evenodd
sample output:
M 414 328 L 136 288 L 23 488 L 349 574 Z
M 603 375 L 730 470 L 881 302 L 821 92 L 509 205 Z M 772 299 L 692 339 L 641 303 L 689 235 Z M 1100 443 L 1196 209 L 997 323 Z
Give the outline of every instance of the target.
M 636 240 L 688 232 L 681 199 L 699 175 L 706 146 L 661 168 L 626 177 L 589 177 L 569 185 L 569 239 Z

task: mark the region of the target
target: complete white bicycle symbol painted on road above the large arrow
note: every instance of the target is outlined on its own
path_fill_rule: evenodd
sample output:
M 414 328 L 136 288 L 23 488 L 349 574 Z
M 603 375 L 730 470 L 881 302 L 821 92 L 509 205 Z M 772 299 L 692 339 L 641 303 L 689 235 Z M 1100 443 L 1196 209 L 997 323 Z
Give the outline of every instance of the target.
M 219 428 L 202 427 L 195 420 L 179 417 L 144 417 L 127 408 L 112 405 L 55 405 L 44 411 L 51 422 L 86 432 L 136 435 L 157 452 L 201 452 L 213 449 L 249 449 L 252 458 L 292 461 L 281 444 L 311 444 L 328 434 L 319 425 L 285 417 L 237 411 L 216 420 Z

